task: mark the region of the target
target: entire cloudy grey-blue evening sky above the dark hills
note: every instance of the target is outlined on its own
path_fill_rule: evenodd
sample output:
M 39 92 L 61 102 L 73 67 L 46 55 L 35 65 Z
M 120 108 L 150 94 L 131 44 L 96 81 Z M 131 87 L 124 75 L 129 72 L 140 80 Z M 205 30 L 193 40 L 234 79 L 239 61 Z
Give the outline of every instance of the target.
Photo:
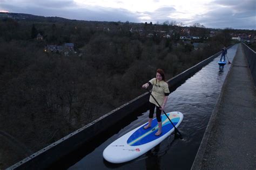
M 200 23 L 256 30 L 255 0 L 0 0 L 0 11 L 45 17 L 134 23 Z

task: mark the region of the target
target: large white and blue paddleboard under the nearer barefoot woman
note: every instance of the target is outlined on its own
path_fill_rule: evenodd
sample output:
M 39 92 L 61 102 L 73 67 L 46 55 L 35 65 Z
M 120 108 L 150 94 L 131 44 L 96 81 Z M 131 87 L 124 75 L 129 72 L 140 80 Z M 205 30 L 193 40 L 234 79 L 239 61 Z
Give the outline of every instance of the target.
M 171 119 L 176 128 L 183 120 L 181 112 L 174 111 L 166 115 Z M 162 133 L 160 136 L 155 135 L 158 131 L 158 124 L 157 119 L 154 118 L 150 128 L 144 129 L 143 127 L 148 124 L 145 123 L 113 141 L 103 151 L 103 157 L 109 162 L 118 164 L 138 158 L 140 155 L 151 150 L 151 148 L 158 145 L 174 131 L 173 125 L 165 115 L 161 115 L 161 120 Z

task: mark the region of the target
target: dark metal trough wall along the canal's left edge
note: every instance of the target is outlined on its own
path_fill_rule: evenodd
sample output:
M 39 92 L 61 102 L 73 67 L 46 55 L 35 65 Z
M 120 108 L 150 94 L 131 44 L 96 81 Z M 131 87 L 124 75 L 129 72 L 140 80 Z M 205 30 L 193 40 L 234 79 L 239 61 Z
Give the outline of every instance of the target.
M 210 58 L 199 62 L 197 65 L 168 80 L 167 82 L 169 83 L 171 89 L 176 89 L 190 76 L 197 73 L 198 70 L 206 66 L 209 62 L 213 61 L 213 59 L 219 56 L 220 53 L 221 52 L 218 52 L 210 56 Z M 132 112 L 142 107 L 149 101 L 149 96 L 150 95 L 148 93 L 144 93 L 143 95 L 134 98 L 130 102 L 127 102 L 121 107 L 108 112 L 104 116 L 85 125 L 83 128 L 68 134 L 67 136 L 57 140 L 55 143 L 44 147 L 42 150 L 33 153 L 29 157 L 17 162 L 7 169 L 45 169 L 49 167 L 60 158 L 63 158 L 65 155 L 77 150 L 91 138 L 103 133 L 118 121 L 121 121 L 125 117 L 129 116 Z M 104 126 L 104 129 L 102 126 Z

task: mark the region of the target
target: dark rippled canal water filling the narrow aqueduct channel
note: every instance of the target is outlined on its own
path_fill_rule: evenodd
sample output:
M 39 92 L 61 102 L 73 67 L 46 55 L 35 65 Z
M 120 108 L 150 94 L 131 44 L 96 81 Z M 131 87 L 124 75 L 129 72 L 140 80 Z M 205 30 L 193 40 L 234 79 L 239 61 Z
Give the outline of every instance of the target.
M 234 45 L 228 49 L 227 56 L 230 62 L 232 62 L 237 48 L 238 45 Z M 183 139 L 174 139 L 174 134 L 172 134 L 149 152 L 123 164 L 111 164 L 104 160 L 102 153 L 105 147 L 125 133 L 147 122 L 149 111 L 144 110 L 131 119 L 117 123 L 102 137 L 93 139 L 91 143 L 69 155 L 65 161 L 59 162 L 59 168 L 190 169 L 231 66 L 226 64 L 220 71 L 219 59 L 220 56 L 192 75 L 168 98 L 165 112 L 180 111 L 184 114 L 183 122 L 178 127 Z

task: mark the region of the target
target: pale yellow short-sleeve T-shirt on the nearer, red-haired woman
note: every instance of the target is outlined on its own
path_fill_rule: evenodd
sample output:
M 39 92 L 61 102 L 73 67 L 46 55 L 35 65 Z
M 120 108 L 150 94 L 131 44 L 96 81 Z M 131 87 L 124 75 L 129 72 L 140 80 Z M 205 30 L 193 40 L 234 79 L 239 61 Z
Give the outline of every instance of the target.
M 151 79 L 149 83 L 153 86 L 151 94 L 156 98 L 160 106 L 163 105 L 164 97 L 170 94 L 168 84 L 163 80 L 157 80 L 157 78 Z M 150 95 L 150 103 L 156 104 L 156 106 L 159 107 L 154 98 Z

